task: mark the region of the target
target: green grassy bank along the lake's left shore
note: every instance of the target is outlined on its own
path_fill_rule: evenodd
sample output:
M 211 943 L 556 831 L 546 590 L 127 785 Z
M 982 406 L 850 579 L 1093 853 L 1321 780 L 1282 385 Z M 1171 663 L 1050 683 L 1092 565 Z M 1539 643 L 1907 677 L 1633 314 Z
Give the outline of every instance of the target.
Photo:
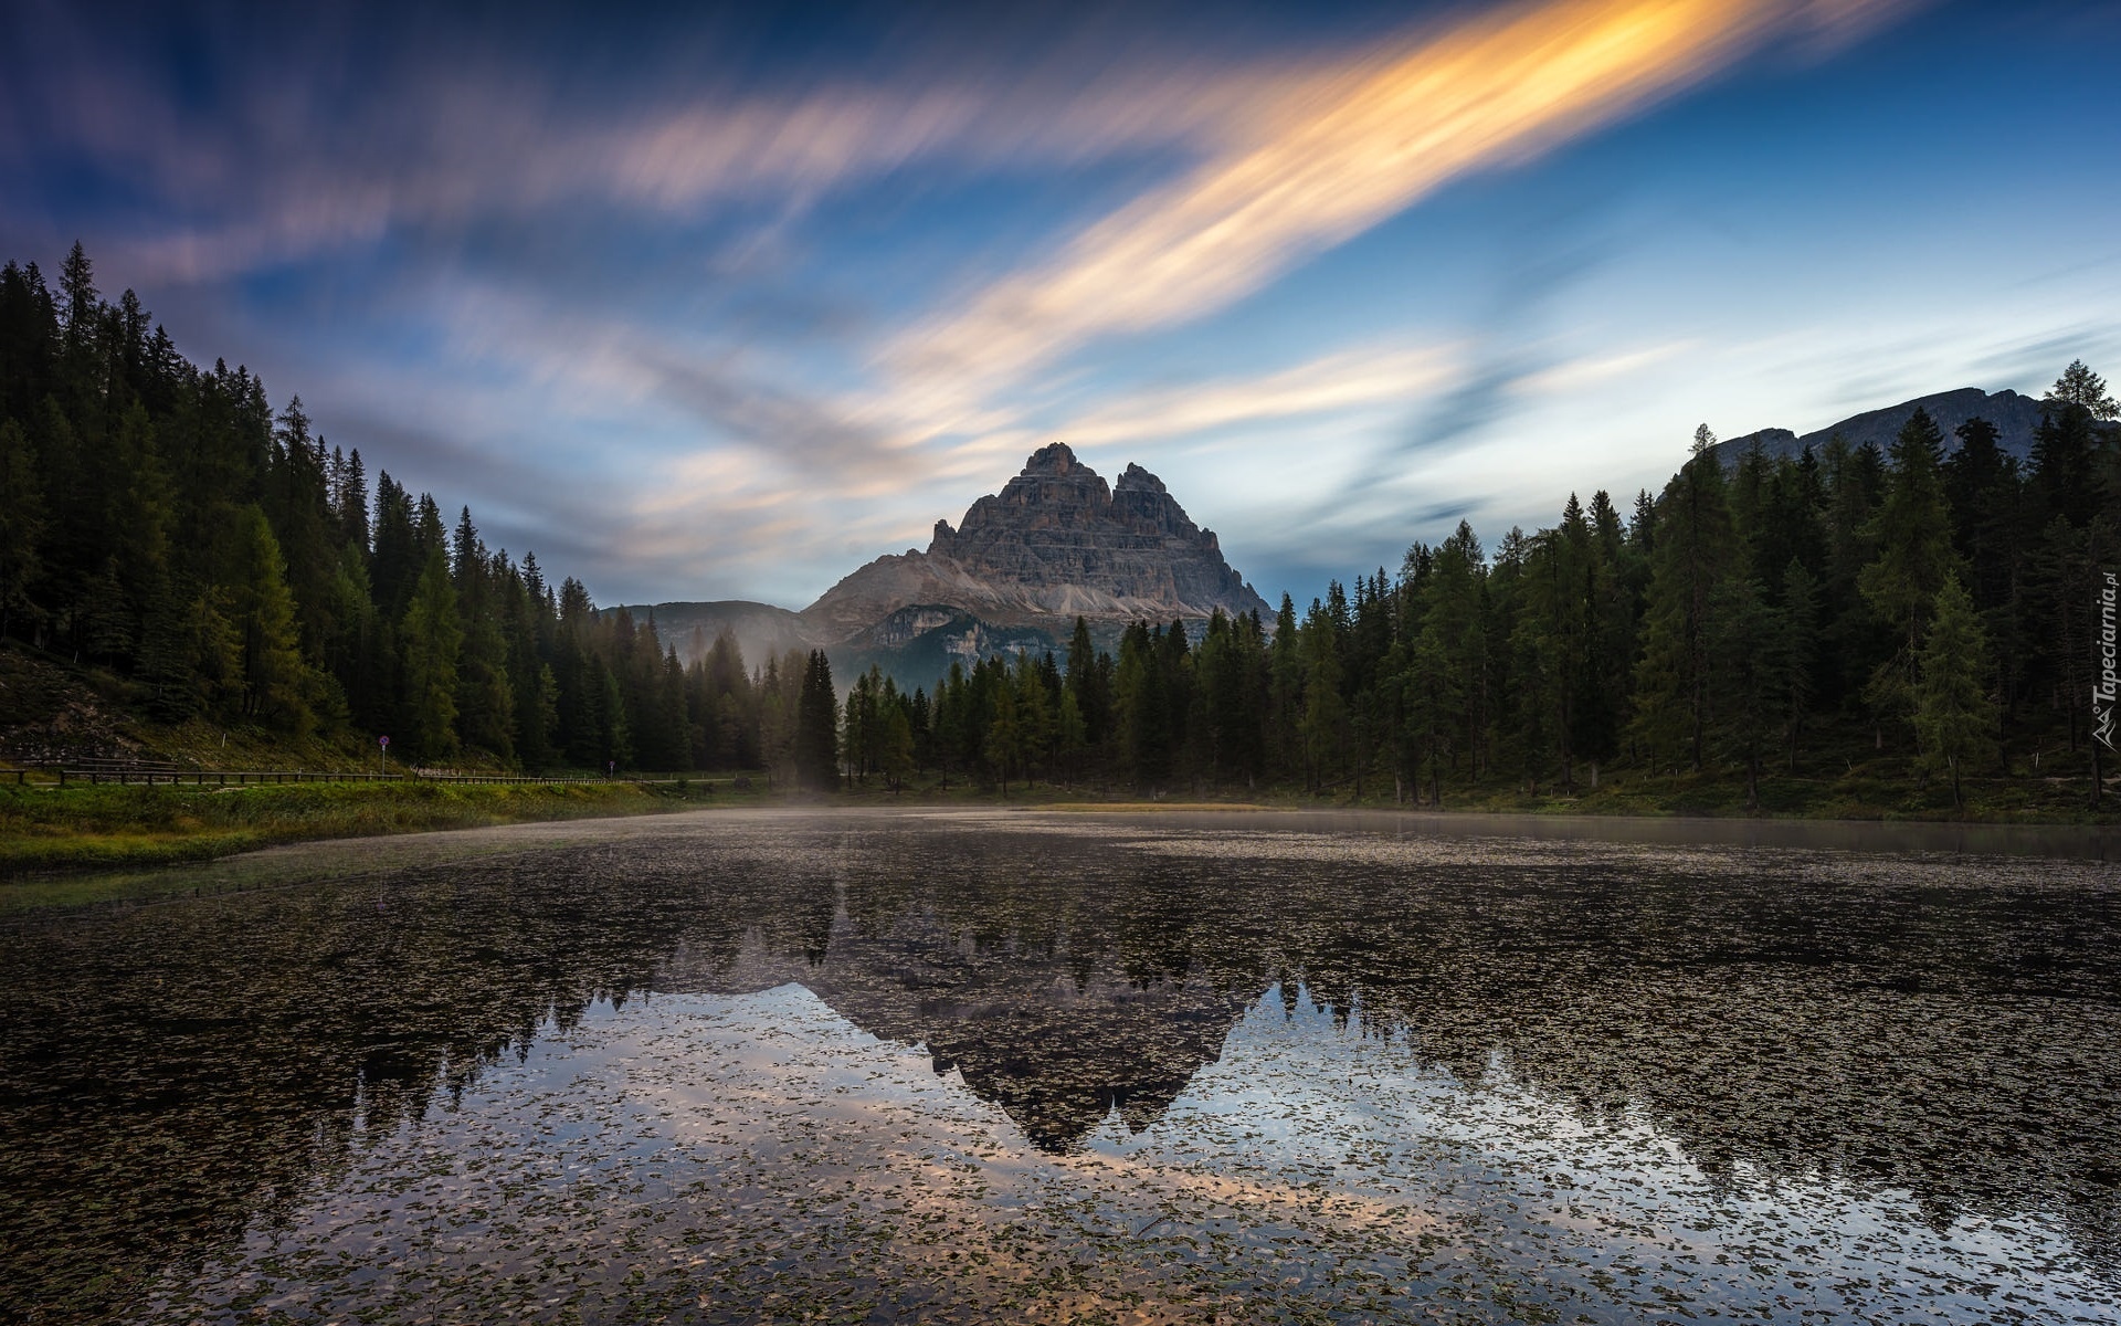
M 751 800 L 719 783 L 0 787 L 0 878 L 206 861 L 274 842 L 651 815 Z

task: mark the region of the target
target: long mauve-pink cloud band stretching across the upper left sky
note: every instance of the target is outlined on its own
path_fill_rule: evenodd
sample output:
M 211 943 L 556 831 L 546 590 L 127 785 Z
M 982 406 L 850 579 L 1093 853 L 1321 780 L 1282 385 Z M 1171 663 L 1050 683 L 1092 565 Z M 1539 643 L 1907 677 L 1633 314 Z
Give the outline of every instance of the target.
M 1313 78 L 1302 62 L 1137 57 L 1097 70 L 840 68 L 744 89 L 708 68 L 583 104 L 551 78 L 445 49 L 363 68 L 373 85 L 358 95 L 231 68 L 210 104 L 187 106 L 102 51 L 85 15 L 34 17 L 23 45 L 70 57 L 0 95 L 0 168 L 66 155 L 151 193 L 153 219 L 104 246 L 142 282 L 221 280 L 407 229 L 568 206 L 664 221 L 730 204 L 800 212 L 927 161 L 980 172 L 1116 153 L 1196 159 L 1251 134 Z M 291 53 L 259 53 L 280 57 Z

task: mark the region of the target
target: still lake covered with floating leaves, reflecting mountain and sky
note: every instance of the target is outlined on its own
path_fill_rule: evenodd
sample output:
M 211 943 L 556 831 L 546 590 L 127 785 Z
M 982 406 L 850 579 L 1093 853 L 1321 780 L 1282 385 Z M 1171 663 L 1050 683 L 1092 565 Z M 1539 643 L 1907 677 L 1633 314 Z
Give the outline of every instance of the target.
M 13 919 L 0 1320 L 2121 1320 L 2121 870 L 1599 832 L 706 813 Z

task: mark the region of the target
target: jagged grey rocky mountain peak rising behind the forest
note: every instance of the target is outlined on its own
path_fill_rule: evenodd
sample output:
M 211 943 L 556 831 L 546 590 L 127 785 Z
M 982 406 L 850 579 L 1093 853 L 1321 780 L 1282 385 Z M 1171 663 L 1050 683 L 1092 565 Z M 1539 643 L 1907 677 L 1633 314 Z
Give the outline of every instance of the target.
M 1273 611 L 1156 475 L 1128 465 L 1107 486 L 1060 443 L 1033 452 L 1001 492 L 971 503 L 959 528 L 937 520 L 927 552 L 876 558 L 802 615 L 821 634 L 846 639 L 908 605 L 1003 624 Z

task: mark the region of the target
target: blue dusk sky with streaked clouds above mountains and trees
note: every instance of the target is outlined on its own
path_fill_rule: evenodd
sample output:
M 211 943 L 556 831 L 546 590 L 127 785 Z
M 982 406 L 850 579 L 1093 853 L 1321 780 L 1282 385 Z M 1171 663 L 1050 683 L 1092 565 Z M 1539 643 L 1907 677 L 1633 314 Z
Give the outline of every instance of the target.
M 6 0 L 0 259 L 598 603 L 804 607 L 1050 441 L 1302 603 L 2121 380 L 2113 0 L 670 8 Z

